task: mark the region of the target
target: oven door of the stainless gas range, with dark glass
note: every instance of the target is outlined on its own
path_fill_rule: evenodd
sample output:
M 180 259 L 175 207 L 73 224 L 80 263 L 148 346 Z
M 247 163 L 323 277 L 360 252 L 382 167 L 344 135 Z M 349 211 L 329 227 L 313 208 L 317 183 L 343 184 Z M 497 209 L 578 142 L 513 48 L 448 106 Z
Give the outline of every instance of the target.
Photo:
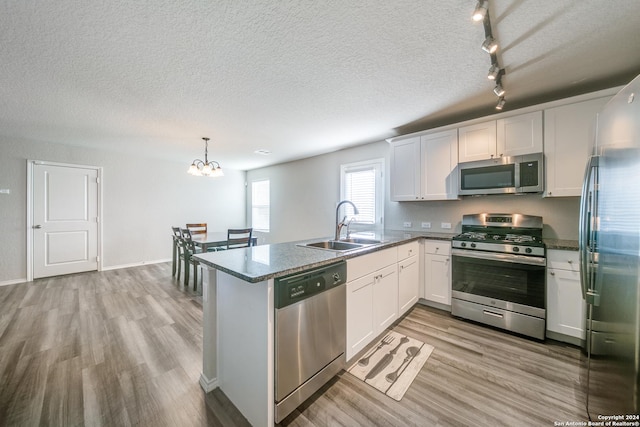
M 453 297 L 545 318 L 546 259 L 453 249 Z

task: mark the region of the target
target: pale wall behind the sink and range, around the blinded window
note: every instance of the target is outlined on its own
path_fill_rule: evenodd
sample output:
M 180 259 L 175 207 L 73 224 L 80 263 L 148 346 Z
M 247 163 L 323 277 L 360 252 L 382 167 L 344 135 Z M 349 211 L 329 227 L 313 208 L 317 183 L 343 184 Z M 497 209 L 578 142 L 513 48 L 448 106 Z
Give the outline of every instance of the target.
M 335 206 L 340 195 L 340 165 L 385 158 L 385 228 L 424 231 L 421 222 L 431 222 L 432 232 L 459 232 L 462 215 L 480 212 L 523 213 L 542 216 L 544 237 L 578 238 L 579 198 L 542 198 L 540 195 L 496 195 L 467 197 L 442 202 L 391 202 L 389 200 L 390 149 L 386 141 L 362 145 L 296 162 L 247 172 L 247 181 L 271 180 L 271 232 L 261 243 L 332 236 Z M 250 207 L 250 200 L 248 200 Z M 249 209 L 250 210 L 250 209 Z M 250 212 L 248 212 L 250 218 Z M 449 222 L 452 229 L 442 229 Z

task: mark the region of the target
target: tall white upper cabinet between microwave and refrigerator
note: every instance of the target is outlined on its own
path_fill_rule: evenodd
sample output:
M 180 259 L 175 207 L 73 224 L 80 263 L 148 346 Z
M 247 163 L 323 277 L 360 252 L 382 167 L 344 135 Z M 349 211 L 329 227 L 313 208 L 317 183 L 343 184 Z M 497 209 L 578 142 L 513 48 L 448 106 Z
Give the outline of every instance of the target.
M 580 196 L 596 117 L 609 99 L 606 96 L 544 110 L 545 197 Z

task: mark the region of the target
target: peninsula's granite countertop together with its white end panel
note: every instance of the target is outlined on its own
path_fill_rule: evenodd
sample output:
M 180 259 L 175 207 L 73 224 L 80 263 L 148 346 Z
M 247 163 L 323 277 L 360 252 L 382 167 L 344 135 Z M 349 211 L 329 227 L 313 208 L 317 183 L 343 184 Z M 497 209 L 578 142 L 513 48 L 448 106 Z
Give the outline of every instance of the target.
M 346 252 L 293 242 L 197 255 L 206 267 L 202 388 L 220 387 L 252 425 L 273 425 L 275 281 L 366 254 L 395 255 L 396 247 L 407 243 L 451 235 L 386 232 L 376 237 L 381 243 Z

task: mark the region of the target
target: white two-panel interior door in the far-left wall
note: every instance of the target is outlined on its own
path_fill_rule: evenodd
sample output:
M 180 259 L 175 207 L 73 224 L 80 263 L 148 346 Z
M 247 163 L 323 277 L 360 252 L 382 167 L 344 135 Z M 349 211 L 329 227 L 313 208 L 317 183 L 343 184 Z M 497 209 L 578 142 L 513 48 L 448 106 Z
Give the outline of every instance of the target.
M 98 269 L 98 169 L 33 163 L 33 278 Z

